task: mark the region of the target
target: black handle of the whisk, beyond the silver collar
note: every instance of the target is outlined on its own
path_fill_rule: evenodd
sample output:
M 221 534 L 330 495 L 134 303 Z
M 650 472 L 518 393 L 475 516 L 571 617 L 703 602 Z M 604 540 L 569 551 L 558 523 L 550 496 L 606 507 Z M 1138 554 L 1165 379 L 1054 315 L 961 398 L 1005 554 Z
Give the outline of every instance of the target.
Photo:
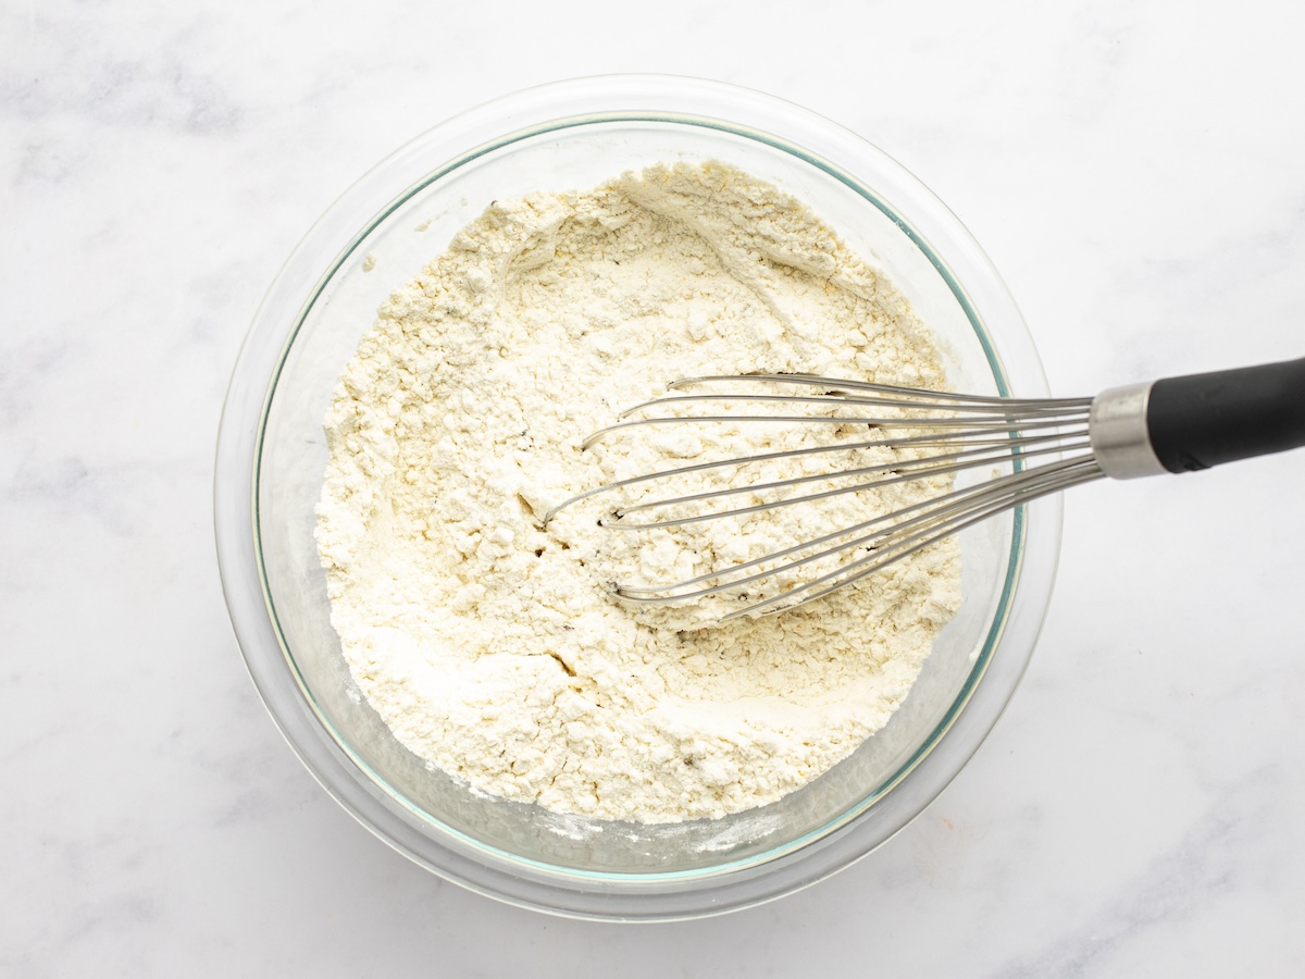
M 1167 377 L 1151 385 L 1147 431 L 1171 473 L 1305 445 L 1305 358 Z

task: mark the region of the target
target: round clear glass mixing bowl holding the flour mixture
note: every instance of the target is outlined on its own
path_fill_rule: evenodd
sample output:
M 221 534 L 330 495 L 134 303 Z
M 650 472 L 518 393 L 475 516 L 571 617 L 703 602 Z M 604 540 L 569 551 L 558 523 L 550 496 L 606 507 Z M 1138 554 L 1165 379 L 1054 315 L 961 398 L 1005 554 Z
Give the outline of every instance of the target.
M 218 437 L 218 557 L 249 672 L 346 809 L 472 890 L 576 916 L 688 918 L 817 881 L 932 801 L 992 728 L 1032 653 L 1060 547 L 1044 499 L 960 535 L 964 595 L 910 697 L 852 756 L 778 803 L 639 825 L 505 801 L 431 770 L 354 684 L 313 542 L 322 419 L 377 305 L 495 198 L 720 159 L 805 201 L 937 335 L 959 390 L 1045 397 L 1019 311 L 959 221 L 881 151 L 757 93 L 688 78 L 560 82 L 484 104 L 398 150 L 337 201 L 273 283 Z

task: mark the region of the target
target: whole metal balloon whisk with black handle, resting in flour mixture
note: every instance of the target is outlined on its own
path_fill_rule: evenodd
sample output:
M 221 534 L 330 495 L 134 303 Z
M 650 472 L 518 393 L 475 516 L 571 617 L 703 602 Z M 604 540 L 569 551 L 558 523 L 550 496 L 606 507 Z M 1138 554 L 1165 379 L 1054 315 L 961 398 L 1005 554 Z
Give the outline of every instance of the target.
M 945 487 L 923 501 L 867 513 L 850 526 L 685 581 L 615 586 L 620 598 L 636 603 L 733 594 L 740 604 L 722 619 L 813 602 L 1013 506 L 1101 476 L 1184 473 L 1305 445 L 1305 359 L 1134 384 L 1073 399 L 951 394 L 809 375 L 690 377 L 669 390 L 624 411 L 616 424 L 594 432 L 583 446 L 646 426 L 763 423 L 838 435 L 797 449 L 732 456 L 621 479 L 566 500 L 545 522 L 582 500 L 636 488 L 645 499 L 619 506 L 599 522 L 619 530 L 656 531 L 894 484 L 932 480 L 930 488 Z M 735 410 L 740 407 L 758 414 Z M 848 439 L 848 432 L 864 435 Z M 891 452 L 893 458 L 855 466 L 839 462 L 848 453 L 874 452 Z M 656 483 L 669 484 L 692 474 L 804 456 L 827 466 L 801 476 L 709 492 L 650 492 Z M 988 469 L 989 475 L 953 486 L 958 474 L 979 469 Z M 830 482 L 838 484 L 822 487 Z M 758 496 L 771 499 L 746 499 Z M 739 497 L 744 497 L 743 504 Z M 784 586 L 786 577 L 817 561 L 837 567 Z

